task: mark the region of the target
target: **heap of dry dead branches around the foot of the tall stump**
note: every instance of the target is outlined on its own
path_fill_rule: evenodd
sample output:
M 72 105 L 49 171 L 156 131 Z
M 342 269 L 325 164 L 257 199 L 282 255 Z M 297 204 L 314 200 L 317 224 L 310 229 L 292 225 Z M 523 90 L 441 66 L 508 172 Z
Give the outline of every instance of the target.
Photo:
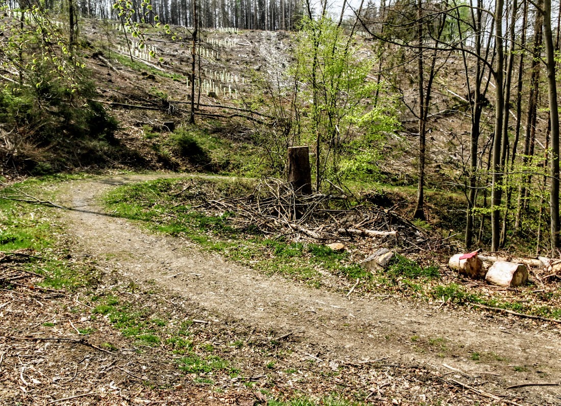
M 190 180 L 177 197 L 208 216 L 227 213 L 237 230 L 291 235 L 295 240 L 326 243 L 374 238 L 404 251 L 436 250 L 442 241 L 391 209 L 359 202 L 335 185 L 327 193 L 301 195 L 284 181 L 265 179 L 249 193 L 233 196 Z

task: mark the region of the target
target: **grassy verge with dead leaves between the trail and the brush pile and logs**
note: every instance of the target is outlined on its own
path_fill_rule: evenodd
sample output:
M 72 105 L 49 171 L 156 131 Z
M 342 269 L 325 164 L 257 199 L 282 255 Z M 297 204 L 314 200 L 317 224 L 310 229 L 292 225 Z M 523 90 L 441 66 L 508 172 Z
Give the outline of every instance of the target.
M 201 248 L 250 266 L 266 274 L 278 273 L 289 279 L 319 287 L 325 272 L 354 282 L 361 280 L 360 291 L 394 294 L 426 302 L 448 305 L 486 305 L 519 313 L 561 317 L 561 295 L 555 291 L 533 292 L 531 286 L 520 294 L 469 289 L 457 276 L 431 259 L 412 261 L 396 254 L 388 268 L 366 271 L 351 260 L 350 253 L 336 252 L 321 244 L 287 240 L 282 235 L 264 235 L 259 230 L 236 227 L 235 213 L 217 211 L 214 215 L 197 211 L 199 200 L 182 194 L 204 194 L 213 190 L 215 199 L 252 191 L 251 183 L 228 180 L 194 180 L 188 192 L 185 180 L 156 180 L 121 186 L 105 197 L 110 212 L 130 218 L 151 230 L 182 236 Z M 352 247 L 351 247 L 352 248 Z M 522 297 L 523 296 L 523 297 Z

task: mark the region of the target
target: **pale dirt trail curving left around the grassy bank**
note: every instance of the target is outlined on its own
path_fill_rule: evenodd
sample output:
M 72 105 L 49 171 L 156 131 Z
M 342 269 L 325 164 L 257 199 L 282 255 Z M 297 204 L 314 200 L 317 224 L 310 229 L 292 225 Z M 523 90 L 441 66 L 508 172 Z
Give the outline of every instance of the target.
M 59 203 L 77 247 L 133 281 L 154 280 L 190 298 L 217 321 L 240 320 L 278 336 L 291 332 L 327 360 L 385 358 L 443 373 L 488 376 L 486 391 L 561 381 L 559 326 L 428 304 L 378 300 L 311 288 L 201 253 L 188 241 L 149 234 L 103 212 L 97 199 L 114 185 L 155 176 L 72 181 Z M 171 177 L 171 176 L 163 176 Z M 480 359 L 472 359 L 472 353 Z M 450 368 L 451 367 L 451 368 Z M 452 368 L 457 368 L 454 371 Z M 559 386 L 511 389 L 534 404 L 561 404 Z

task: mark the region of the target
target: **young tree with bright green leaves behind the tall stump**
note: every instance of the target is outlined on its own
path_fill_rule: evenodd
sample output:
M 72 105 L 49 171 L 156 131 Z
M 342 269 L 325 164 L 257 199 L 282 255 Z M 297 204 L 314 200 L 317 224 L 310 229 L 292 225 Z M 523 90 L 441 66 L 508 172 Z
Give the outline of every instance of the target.
M 325 15 L 305 20 L 297 37 L 291 70 L 302 83 L 297 90 L 301 138 L 315 143 L 316 189 L 327 174 L 338 172 L 343 140 L 353 126 L 379 112 L 366 109 L 365 99 L 376 88 L 367 80 L 372 61 L 357 56 L 352 38 Z

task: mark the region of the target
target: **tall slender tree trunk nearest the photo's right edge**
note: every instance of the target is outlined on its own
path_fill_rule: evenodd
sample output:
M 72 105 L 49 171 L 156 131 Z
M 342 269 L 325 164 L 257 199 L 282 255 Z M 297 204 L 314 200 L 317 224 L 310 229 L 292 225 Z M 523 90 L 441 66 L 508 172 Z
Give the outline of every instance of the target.
M 553 257 L 558 255 L 559 239 L 559 110 L 555 81 L 555 54 L 551 33 L 551 0 L 544 0 L 544 47 L 548 72 L 549 119 L 551 125 L 551 179 L 549 207 L 551 217 L 550 245 Z

